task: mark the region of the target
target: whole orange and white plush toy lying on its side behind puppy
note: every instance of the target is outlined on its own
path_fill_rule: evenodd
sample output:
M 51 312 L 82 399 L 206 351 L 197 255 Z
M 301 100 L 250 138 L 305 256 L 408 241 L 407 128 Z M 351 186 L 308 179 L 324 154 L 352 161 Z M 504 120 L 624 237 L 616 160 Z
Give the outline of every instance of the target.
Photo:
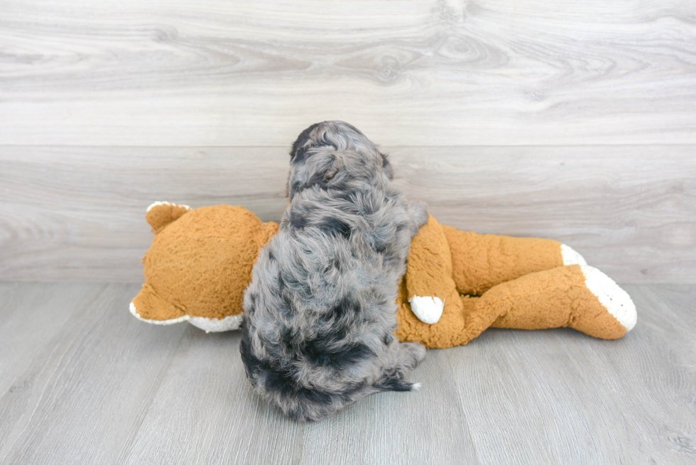
M 278 224 L 244 207 L 168 202 L 152 204 L 146 219 L 155 238 L 131 313 L 207 332 L 238 328 L 251 269 Z M 411 243 L 396 303 L 398 338 L 429 348 L 467 344 L 489 327 L 617 339 L 636 324 L 629 295 L 565 244 L 459 231 L 432 216 Z

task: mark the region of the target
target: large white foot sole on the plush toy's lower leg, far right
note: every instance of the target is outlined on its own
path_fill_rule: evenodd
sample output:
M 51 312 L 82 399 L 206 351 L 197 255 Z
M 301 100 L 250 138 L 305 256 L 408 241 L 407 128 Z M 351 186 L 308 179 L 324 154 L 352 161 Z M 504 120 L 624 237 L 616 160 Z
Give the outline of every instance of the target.
M 638 315 L 636 305 L 629 296 L 629 293 L 619 288 L 614 280 L 602 273 L 602 271 L 592 266 L 580 266 L 584 275 L 584 282 L 592 294 L 597 296 L 599 303 L 614 315 L 619 323 L 623 324 L 626 332 L 631 331 L 636 326 Z

